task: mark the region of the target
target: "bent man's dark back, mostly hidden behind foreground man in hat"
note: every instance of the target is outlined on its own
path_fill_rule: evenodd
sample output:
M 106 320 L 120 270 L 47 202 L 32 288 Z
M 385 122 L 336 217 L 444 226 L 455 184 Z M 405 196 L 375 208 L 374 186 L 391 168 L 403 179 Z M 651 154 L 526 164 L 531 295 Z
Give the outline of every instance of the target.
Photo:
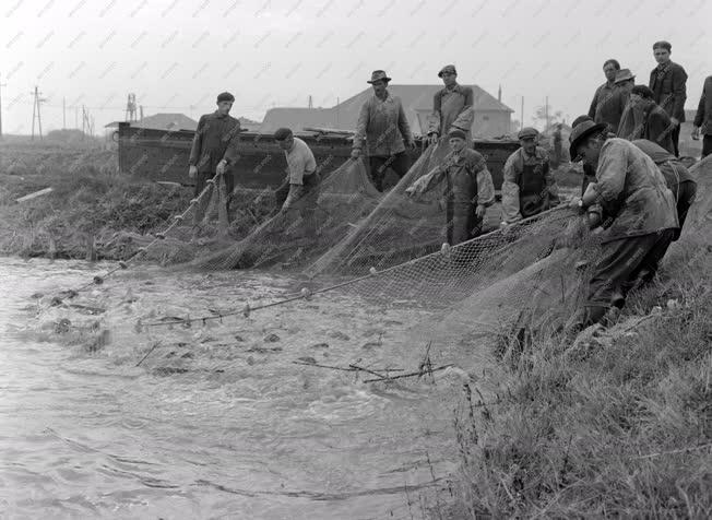
M 685 220 L 687 218 L 687 212 L 695 202 L 697 180 L 690 174 L 690 170 L 669 150 L 665 150 L 658 144 L 644 139 L 638 139 L 632 141 L 632 143 L 657 165 L 663 177 L 665 177 L 667 188 L 675 197 L 677 221 L 680 225 L 680 228 L 675 232 L 675 236 L 673 237 L 673 241 L 675 241 L 679 238 Z

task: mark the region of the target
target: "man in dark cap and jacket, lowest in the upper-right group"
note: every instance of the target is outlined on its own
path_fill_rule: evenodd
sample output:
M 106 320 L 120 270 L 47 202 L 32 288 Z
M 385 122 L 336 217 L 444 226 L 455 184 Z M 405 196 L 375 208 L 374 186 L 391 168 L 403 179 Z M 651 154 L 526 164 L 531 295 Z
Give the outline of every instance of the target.
M 667 113 L 653 101 L 653 91 L 645 85 L 633 86 L 630 91 L 630 103 L 620 118 L 618 137 L 628 141 L 646 139 L 674 154 L 674 128 Z

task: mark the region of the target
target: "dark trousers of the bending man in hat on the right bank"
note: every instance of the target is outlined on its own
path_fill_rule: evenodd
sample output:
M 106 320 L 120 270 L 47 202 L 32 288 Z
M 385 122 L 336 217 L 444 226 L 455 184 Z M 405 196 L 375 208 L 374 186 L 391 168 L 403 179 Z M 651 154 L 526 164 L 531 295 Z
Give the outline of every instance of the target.
M 603 319 L 610 307 L 622 307 L 631 288 L 650 282 L 673 240 L 675 229 L 619 238 L 601 248 L 589 282 L 583 327 Z

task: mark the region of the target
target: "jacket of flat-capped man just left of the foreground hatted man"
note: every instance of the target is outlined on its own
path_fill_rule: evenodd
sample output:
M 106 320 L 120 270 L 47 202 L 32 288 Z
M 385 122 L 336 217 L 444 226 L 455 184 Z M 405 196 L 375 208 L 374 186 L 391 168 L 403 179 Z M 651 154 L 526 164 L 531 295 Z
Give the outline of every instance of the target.
M 541 192 L 529 193 L 524 189 L 526 179 L 523 178 L 524 169 L 533 167 L 544 175 Z M 515 222 L 522 218 L 522 203 L 524 198 L 536 197 L 543 202 L 542 211 L 559 202 L 559 190 L 549 167 L 549 154 L 541 146 L 536 146 L 533 154 L 527 154 L 520 147 L 512 153 L 502 172 L 502 216 L 505 222 Z

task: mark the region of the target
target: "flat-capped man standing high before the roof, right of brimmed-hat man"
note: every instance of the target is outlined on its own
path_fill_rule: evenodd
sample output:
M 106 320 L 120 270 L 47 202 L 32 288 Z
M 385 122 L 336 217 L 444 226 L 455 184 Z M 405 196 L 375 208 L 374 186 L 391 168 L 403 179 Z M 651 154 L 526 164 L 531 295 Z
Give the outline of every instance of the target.
M 432 98 L 432 114 L 428 117 L 428 141 L 436 144 L 440 137 L 456 128 L 465 132 L 470 146 L 474 120 L 472 87 L 458 84 L 458 71 L 453 64 L 440 69 L 438 76 L 444 88 L 436 92 Z

